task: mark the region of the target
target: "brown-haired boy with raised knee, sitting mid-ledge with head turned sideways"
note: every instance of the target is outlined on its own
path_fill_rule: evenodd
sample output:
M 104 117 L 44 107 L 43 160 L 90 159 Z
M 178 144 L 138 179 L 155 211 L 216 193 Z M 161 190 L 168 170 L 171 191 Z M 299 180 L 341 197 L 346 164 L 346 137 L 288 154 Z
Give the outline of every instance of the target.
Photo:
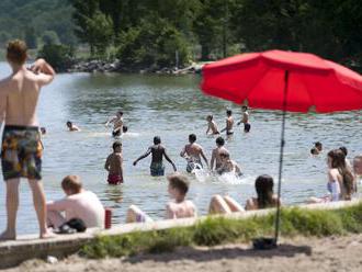
M 185 175 L 173 173 L 167 177 L 168 192 L 174 201 L 166 205 L 166 219 L 196 217 L 196 208 L 192 201 L 185 200 L 190 182 Z M 127 211 L 126 223 L 152 222 L 152 219 L 136 205 L 131 205 Z

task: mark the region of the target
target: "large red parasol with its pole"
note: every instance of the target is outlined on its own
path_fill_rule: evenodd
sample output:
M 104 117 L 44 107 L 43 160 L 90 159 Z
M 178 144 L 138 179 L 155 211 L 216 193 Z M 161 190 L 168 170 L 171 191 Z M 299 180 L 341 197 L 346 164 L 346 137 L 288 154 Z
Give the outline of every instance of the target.
M 241 54 L 202 69 L 204 93 L 248 103 L 252 107 L 282 110 L 278 196 L 283 170 L 285 112 L 318 113 L 362 109 L 362 77 L 329 60 L 307 53 L 268 50 Z M 278 242 L 280 206 L 276 208 Z

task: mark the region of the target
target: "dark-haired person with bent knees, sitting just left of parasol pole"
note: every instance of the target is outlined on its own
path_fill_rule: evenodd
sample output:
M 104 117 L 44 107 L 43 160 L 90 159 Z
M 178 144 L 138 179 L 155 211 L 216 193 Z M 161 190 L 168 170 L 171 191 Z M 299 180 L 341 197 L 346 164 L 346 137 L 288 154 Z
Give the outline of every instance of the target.
M 214 195 L 210 203 L 210 214 L 229 214 L 235 212 L 252 211 L 275 207 L 281 201 L 273 193 L 273 178 L 268 174 L 259 175 L 256 180 L 257 197 L 247 200 L 245 208 L 242 208 L 230 196 Z

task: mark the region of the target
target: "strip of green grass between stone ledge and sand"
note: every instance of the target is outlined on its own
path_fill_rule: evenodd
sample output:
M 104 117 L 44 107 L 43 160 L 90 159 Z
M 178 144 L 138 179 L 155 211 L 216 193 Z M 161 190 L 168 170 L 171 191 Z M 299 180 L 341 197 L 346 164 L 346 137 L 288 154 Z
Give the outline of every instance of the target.
M 86 258 L 169 252 L 177 247 L 247 242 L 273 235 L 274 214 L 247 219 L 210 217 L 193 227 L 99 237 L 81 250 Z M 362 233 L 362 204 L 332 211 L 283 208 L 282 236 L 346 235 Z

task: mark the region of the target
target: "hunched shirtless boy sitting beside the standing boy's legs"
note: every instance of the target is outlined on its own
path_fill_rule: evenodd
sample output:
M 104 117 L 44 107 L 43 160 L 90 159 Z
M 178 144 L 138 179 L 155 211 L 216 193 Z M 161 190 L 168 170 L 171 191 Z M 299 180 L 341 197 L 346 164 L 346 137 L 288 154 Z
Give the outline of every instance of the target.
M 82 188 L 78 175 L 65 177 L 61 188 L 66 197 L 46 204 L 48 227 L 58 228 L 72 218 L 79 218 L 88 228 L 103 228 L 104 207 L 94 193 Z

